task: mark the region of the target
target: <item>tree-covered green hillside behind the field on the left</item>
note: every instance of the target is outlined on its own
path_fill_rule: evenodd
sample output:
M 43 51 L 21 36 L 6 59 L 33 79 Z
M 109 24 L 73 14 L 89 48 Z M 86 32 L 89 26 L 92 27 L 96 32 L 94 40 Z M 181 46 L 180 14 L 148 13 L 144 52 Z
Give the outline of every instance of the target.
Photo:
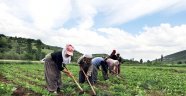
M 41 60 L 46 54 L 58 50 L 62 48 L 46 45 L 39 39 L 9 37 L 0 34 L 0 59 Z M 72 61 L 76 61 L 80 55 L 80 52 L 75 51 Z

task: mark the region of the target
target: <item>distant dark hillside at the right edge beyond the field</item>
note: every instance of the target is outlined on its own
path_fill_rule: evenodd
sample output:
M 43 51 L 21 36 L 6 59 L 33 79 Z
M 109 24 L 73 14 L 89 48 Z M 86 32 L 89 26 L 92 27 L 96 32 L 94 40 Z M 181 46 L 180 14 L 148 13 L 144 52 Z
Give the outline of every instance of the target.
M 176 52 L 164 57 L 165 62 L 185 62 L 186 61 L 186 50 Z

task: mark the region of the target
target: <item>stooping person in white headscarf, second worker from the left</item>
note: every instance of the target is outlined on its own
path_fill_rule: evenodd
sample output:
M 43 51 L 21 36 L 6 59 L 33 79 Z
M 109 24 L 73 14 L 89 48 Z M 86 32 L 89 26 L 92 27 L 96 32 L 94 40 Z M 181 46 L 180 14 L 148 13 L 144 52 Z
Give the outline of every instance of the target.
M 93 81 L 92 81 L 93 65 L 91 64 L 91 59 L 92 59 L 91 54 L 84 54 L 78 59 L 77 63 L 80 66 L 79 83 L 85 82 L 85 79 L 86 79 L 85 75 L 86 75 L 90 83 L 93 84 Z M 83 71 L 85 72 L 85 74 L 83 73 Z

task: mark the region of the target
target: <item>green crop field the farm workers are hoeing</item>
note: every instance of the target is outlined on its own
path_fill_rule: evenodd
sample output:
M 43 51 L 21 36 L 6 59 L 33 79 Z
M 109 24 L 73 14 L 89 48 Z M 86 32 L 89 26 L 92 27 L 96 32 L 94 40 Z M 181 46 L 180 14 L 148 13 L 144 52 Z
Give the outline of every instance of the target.
M 67 68 L 78 78 L 79 67 Z M 95 85 L 97 96 L 185 96 L 186 67 L 121 66 L 121 75 L 109 75 L 103 81 L 99 71 Z M 63 96 L 77 96 L 78 87 L 62 74 Z M 85 90 L 81 96 L 92 94 L 88 83 L 80 84 Z M 0 95 L 52 96 L 45 89 L 43 64 L 0 64 Z

